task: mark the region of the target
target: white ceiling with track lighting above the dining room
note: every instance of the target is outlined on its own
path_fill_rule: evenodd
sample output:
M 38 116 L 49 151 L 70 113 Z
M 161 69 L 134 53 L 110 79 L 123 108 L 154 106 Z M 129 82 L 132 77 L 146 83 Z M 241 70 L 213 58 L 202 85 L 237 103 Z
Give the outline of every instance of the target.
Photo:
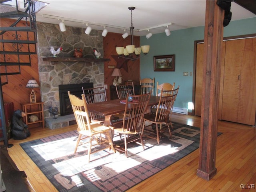
M 131 25 L 131 12 L 128 7 L 134 6 L 132 20 L 135 30 L 150 28 L 152 26 L 172 23 L 168 26 L 171 31 L 197 26 L 204 26 L 205 6 L 204 0 L 40 0 L 49 3 L 36 13 L 37 22 L 59 24 L 61 20 L 46 18 L 46 15 L 55 18 L 65 18 L 66 26 L 86 28 L 86 23 L 93 29 L 103 30 L 106 26 L 108 32 L 124 33 Z M 235 2 L 231 5 L 232 21 L 252 18 L 256 15 L 242 8 Z M 73 20 L 70 22 L 68 20 Z M 74 22 L 75 21 L 75 22 Z M 92 25 L 98 24 L 100 26 Z M 110 28 L 108 26 L 118 26 Z M 152 34 L 162 33 L 166 26 L 150 29 Z M 143 36 L 148 30 L 136 32 Z

